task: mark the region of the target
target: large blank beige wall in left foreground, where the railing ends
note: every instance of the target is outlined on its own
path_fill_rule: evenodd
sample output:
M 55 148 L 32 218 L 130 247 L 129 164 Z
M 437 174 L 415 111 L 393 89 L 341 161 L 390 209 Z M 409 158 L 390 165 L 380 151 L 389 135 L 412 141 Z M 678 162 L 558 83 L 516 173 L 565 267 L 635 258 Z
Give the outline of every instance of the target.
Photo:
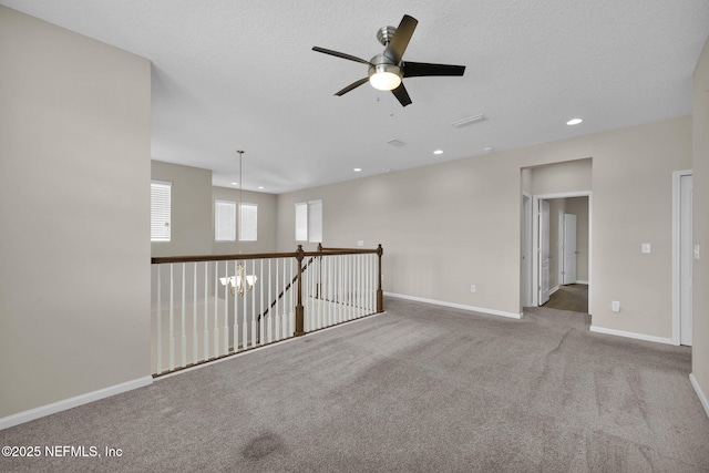
M 0 7 L 0 419 L 150 381 L 151 65 Z

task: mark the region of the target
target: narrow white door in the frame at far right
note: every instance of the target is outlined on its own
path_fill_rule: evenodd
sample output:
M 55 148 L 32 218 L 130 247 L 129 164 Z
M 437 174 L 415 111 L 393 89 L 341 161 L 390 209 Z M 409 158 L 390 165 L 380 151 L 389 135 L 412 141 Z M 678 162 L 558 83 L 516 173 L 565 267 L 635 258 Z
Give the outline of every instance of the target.
M 679 343 L 691 346 L 691 175 L 679 179 Z

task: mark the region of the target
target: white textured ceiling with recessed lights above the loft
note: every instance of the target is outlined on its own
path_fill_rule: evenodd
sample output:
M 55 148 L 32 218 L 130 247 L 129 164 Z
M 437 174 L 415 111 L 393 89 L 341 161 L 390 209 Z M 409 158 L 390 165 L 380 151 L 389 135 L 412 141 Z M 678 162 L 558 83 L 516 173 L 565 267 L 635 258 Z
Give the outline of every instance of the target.
M 0 3 L 153 62 L 154 160 L 230 187 L 245 150 L 245 188 L 274 194 L 689 114 L 709 34 L 707 0 Z M 405 79 L 407 107 L 368 84 L 335 96 L 367 65 L 311 48 L 369 60 L 404 13 L 404 60 L 465 75 Z

